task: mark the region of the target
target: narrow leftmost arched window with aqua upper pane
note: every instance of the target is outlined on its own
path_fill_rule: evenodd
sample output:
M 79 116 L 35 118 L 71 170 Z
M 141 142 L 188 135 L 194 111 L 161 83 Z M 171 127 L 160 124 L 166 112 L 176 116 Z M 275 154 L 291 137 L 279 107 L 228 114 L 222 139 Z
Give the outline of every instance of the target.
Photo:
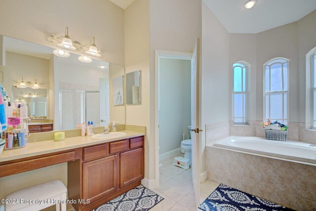
M 233 64 L 233 123 L 247 123 L 247 66 Z

